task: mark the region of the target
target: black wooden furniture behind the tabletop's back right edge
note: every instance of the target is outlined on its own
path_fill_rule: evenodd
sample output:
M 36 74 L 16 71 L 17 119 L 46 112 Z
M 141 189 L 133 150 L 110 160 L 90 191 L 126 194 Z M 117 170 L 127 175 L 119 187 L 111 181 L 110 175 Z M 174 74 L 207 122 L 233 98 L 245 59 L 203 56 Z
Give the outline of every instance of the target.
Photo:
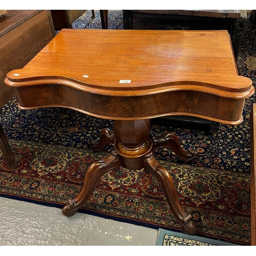
M 123 10 L 124 29 L 227 30 L 237 58 L 246 10 Z

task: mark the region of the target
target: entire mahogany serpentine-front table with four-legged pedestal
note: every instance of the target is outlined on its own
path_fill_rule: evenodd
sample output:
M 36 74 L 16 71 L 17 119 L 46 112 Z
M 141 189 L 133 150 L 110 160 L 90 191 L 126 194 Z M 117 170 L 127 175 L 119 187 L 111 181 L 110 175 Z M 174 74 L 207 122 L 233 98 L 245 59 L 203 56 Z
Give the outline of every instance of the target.
M 88 40 L 90 38 L 90 40 Z M 238 124 L 251 80 L 238 75 L 227 31 L 63 29 L 23 69 L 7 74 L 19 108 L 65 107 L 114 119 L 92 148 L 112 144 L 112 154 L 87 170 L 76 199 L 63 207 L 73 216 L 84 206 L 105 173 L 123 166 L 151 173 L 184 232 L 194 234 L 191 216 L 181 207 L 170 173 L 154 152 L 170 148 L 184 161 L 185 151 L 173 133 L 149 137 L 150 119 L 186 115 Z

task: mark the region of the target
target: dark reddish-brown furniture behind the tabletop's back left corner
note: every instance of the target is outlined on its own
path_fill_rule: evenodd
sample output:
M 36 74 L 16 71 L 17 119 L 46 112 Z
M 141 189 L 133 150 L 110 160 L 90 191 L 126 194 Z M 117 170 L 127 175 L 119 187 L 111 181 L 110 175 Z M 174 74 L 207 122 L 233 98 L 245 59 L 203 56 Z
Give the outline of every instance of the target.
M 85 11 L 86 10 L 51 10 L 54 29 L 72 29 L 72 23 Z

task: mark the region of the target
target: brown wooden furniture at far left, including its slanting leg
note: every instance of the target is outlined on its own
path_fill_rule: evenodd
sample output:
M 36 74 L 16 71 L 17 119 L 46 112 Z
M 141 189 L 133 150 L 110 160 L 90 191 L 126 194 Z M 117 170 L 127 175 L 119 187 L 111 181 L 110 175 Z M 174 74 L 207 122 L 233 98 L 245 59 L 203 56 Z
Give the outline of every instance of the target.
M 8 10 L 0 16 L 0 108 L 15 94 L 6 86 L 6 74 L 23 68 L 55 36 L 50 11 Z M 15 159 L 0 127 L 0 148 L 11 168 Z

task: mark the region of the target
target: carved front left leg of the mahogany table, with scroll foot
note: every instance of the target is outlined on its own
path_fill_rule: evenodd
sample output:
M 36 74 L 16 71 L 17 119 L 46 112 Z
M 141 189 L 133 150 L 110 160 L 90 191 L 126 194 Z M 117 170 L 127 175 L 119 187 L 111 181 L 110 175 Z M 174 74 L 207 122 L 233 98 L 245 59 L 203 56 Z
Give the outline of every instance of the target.
M 68 200 L 68 204 L 62 208 L 62 214 L 67 217 L 73 216 L 87 202 L 98 180 L 110 170 L 120 167 L 120 165 L 119 157 L 115 151 L 104 160 L 93 163 L 87 170 L 81 193 L 76 199 Z

